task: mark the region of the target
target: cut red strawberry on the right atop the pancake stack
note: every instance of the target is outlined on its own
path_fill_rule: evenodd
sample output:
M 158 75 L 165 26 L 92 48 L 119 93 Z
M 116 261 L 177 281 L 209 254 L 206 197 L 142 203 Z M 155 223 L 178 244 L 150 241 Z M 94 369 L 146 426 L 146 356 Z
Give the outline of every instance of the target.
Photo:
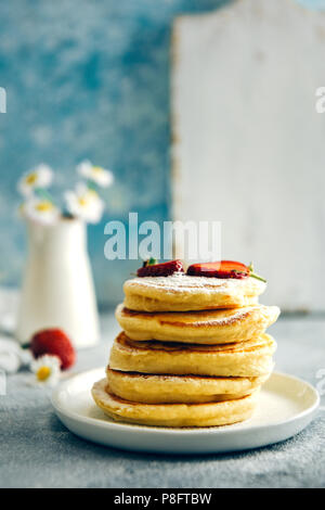
M 253 272 L 252 264 L 245 266 L 245 264 L 234 260 L 219 260 L 217 263 L 193 264 L 187 268 L 187 275 L 195 277 L 210 277 L 210 278 L 256 278 L 261 281 L 266 281 Z

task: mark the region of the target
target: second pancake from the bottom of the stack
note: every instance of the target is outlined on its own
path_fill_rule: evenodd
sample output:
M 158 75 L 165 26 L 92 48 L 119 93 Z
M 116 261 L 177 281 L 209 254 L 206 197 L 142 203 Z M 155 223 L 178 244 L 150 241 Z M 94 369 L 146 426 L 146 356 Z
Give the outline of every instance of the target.
M 125 400 L 145 404 L 184 404 L 233 400 L 250 395 L 268 378 L 209 378 L 120 372 L 107 367 L 110 392 Z

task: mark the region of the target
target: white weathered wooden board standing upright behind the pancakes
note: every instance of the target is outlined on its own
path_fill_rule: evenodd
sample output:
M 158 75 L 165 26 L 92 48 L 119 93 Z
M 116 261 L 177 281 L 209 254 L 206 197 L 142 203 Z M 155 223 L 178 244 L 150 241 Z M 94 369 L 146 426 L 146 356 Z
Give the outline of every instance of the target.
M 325 310 L 325 13 L 237 0 L 173 27 L 173 216 L 221 220 L 264 303 Z

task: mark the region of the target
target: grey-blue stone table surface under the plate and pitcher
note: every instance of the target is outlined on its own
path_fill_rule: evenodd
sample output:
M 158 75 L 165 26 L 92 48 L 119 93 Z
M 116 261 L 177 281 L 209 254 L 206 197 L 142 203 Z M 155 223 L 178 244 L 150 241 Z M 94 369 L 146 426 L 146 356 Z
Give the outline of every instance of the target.
M 117 332 L 113 314 L 103 315 L 102 342 L 78 353 L 74 372 L 104 366 Z M 270 332 L 278 343 L 276 369 L 321 387 L 325 320 L 282 318 Z M 54 415 L 49 392 L 28 384 L 28 378 L 26 371 L 8 377 L 6 395 L 0 396 L 1 487 L 325 486 L 325 407 L 300 434 L 270 447 L 191 457 L 142 455 L 72 434 Z

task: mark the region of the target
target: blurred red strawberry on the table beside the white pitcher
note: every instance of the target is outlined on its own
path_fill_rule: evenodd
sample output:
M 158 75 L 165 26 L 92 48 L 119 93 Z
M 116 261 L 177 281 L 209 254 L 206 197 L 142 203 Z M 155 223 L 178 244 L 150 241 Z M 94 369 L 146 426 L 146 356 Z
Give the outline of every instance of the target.
M 76 361 L 75 348 L 68 336 L 60 329 L 48 329 L 34 334 L 30 350 L 35 358 L 49 354 L 61 359 L 62 370 L 70 368 Z

